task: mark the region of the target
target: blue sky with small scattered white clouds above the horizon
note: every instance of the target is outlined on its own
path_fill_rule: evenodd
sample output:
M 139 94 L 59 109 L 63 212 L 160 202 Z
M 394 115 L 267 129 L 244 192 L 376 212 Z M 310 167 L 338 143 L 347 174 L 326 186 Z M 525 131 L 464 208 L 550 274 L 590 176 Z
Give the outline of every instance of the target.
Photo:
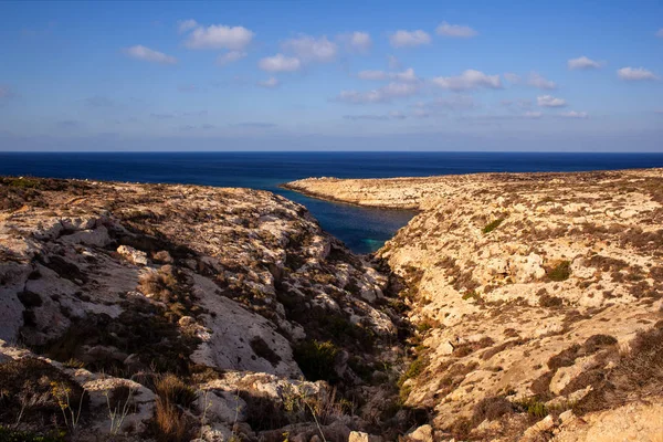
M 661 1 L 22 1 L 0 23 L 0 150 L 663 151 Z

